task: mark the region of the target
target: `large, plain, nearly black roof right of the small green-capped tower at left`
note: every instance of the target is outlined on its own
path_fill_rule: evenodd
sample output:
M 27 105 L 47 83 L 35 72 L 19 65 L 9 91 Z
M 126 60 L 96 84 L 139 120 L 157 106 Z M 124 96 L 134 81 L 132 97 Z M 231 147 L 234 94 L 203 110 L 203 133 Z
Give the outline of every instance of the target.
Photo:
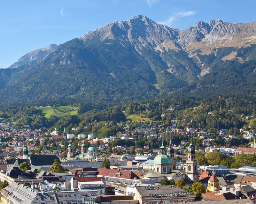
M 31 155 L 29 159 L 31 165 L 34 166 L 50 166 L 55 159 L 60 163 L 59 158 L 56 155 Z

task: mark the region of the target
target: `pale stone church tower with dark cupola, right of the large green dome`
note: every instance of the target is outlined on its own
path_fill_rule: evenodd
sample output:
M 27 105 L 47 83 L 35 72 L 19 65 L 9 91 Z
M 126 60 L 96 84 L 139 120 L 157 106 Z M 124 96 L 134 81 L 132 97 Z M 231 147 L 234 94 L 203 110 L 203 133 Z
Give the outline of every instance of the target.
M 190 148 L 188 149 L 188 159 L 186 161 L 186 174 L 192 181 L 196 181 L 197 179 L 197 168 L 196 150 L 193 148 L 191 137 Z

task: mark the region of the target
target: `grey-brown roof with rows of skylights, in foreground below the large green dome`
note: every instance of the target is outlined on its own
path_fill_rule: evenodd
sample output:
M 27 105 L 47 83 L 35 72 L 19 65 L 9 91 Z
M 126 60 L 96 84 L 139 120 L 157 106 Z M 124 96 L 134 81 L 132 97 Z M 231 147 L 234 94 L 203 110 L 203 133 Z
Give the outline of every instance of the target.
M 187 191 L 178 188 L 173 185 L 168 186 L 136 186 L 138 193 L 141 197 L 159 197 L 154 195 L 161 195 L 160 197 L 177 197 L 177 196 L 192 196 L 193 198 L 195 195 L 188 193 Z M 175 193 L 175 195 L 174 195 Z M 176 194 L 178 193 L 178 194 Z M 182 194 L 180 194 L 182 193 Z M 172 195 L 173 194 L 173 195 Z M 180 195 L 179 195 L 180 194 Z

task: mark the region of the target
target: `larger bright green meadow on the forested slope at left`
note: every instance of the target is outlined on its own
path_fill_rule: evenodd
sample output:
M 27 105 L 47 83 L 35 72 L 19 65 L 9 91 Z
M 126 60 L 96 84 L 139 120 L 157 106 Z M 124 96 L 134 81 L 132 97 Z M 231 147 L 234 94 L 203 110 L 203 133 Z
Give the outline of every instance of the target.
M 45 114 L 46 118 L 50 118 L 51 115 L 56 115 L 58 117 L 63 117 L 66 115 L 75 115 L 77 114 L 77 109 L 76 107 L 73 106 L 58 106 L 58 107 L 43 107 L 43 108 L 38 108 L 42 110 L 42 112 Z M 68 109 L 73 109 L 74 111 L 68 112 Z

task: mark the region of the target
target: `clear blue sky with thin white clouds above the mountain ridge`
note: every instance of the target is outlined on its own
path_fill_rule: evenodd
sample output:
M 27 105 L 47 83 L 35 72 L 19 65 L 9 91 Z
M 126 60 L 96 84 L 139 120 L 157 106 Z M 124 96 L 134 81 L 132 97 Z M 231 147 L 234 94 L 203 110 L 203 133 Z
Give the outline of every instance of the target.
M 2 1 L 0 68 L 32 50 L 79 38 L 89 30 L 138 14 L 183 30 L 199 20 L 256 21 L 255 9 L 255 0 Z

